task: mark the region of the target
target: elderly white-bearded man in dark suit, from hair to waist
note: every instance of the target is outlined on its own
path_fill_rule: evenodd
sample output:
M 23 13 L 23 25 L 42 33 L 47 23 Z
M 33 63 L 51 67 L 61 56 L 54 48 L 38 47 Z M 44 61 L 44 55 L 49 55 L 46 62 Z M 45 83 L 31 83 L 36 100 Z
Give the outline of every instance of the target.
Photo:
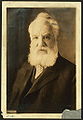
M 75 65 L 58 52 L 57 21 L 41 12 L 28 30 L 30 53 L 17 73 L 10 109 L 18 113 L 60 113 L 75 109 Z

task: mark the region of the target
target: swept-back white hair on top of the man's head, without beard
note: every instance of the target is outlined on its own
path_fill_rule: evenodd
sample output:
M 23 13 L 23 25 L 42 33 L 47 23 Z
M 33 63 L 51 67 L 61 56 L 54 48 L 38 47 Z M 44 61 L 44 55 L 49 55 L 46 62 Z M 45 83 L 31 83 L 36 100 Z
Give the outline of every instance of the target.
M 46 23 L 49 23 L 50 26 L 52 27 L 52 30 L 53 30 L 53 34 L 54 34 L 54 37 L 55 37 L 55 40 L 57 39 L 57 36 L 59 34 L 59 25 L 58 25 L 58 22 L 53 18 L 51 17 L 48 13 L 46 12 L 41 12 L 37 15 L 37 17 L 35 18 L 35 20 L 33 20 L 31 22 L 31 24 L 29 25 L 29 33 L 30 33 L 30 37 L 33 33 L 33 28 L 34 26 L 37 24 L 37 23 L 42 23 L 42 22 L 46 22 Z

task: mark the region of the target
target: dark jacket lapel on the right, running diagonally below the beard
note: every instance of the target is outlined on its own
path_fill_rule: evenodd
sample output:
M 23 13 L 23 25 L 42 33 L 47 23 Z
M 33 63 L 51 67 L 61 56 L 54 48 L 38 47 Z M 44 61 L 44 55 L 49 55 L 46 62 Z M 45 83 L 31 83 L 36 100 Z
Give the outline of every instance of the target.
M 60 72 L 60 67 L 61 67 L 61 62 L 60 62 L 60 57 L 58 57 L 55 65 L 46 68 L 46 70 L 37 78 L 36 82 L 32 85 L 32 87 L 26 93 L 25 96 L 41 89 L 48 82 L 51 82 L 52 80 L 56 80 Z

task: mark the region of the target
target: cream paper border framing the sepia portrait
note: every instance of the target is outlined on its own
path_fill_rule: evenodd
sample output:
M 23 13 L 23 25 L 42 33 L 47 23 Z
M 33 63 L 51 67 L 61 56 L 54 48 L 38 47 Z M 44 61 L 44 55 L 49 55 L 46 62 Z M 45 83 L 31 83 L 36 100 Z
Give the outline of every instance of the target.
M 7 8 L 76 8 L 76 109 L 81 109 L 81 2 L 2 2 L 1 111 L 3 118 L 61 118 L 62 114 L 8 114 L 6 108 Z

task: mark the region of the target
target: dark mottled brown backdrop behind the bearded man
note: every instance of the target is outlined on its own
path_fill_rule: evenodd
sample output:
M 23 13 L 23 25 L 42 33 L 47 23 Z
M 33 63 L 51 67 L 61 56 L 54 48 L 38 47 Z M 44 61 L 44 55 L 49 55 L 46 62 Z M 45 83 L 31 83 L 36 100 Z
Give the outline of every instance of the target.
M 35 15 L 48 11 L 56 18 L 60 26 L 58 40 L 60 54 L 75 63 L 75 8 L 8 8 L 7 9 L 7 69 L 8 94 L 12 88 L 16 73 L 27 59 L 29 52 L 28 26 Z M 10 88 L 10 89 L 9 89 Z

